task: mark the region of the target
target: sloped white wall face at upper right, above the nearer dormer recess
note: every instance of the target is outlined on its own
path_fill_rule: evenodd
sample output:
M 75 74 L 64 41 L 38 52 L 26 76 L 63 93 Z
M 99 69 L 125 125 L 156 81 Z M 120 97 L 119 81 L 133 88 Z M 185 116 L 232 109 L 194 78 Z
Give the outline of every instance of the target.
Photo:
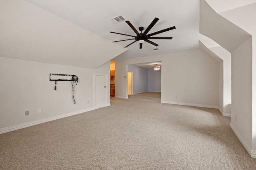
M 199 29 L 201 34 L 211 38 L 230 53 L 250 37 L 241 27 L 217 14 L 205 0 L 200 0 Z

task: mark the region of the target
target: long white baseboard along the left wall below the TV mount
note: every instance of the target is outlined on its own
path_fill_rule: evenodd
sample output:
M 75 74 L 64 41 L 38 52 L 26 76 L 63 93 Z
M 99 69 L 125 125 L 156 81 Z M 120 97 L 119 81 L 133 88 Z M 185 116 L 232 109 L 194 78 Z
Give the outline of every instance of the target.
M 57 116 L 48 117 L 48 118 L 45 118 L 45 119 L 31 121 L 31 122 L 28 122 L 28 123 L 22 123 L 20 125 L 5 127 L 5 128 L 0 129 L 0 134 L 10 132 L 10 131 L 15 131 L 15 130 L 22 129 L 22 128 L 25 128 L 25 127 L 30 127 L 30 126 L 33 126 L 33 125 L 38 125 L 40 123 L 45 123 L 45 122 L 48 122 L 48 121 L 53 121 L 53 120 L 56 120 L 56 119 L 61 119 L 61 118 L 72 116 L 72 115 L 77 115 L 77 114 L 84 113 L 84 112 L 91 111 L 91 110 L 94 110 L 94 108 L 92 107 L 92 108 L 88 108 L 88 109 L 82 109 L 82 110 L 74 111 L 74 112 L 71 112 L 71 113 L 65 113 L 65 114 L 62 114 L 62 115 L 57 115 Z

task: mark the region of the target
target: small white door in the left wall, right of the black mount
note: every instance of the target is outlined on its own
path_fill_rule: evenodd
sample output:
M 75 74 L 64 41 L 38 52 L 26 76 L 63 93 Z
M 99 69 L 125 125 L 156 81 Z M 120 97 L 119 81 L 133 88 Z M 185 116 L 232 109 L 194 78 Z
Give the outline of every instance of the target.
M 108 103 L 108 86 L 107 86 L 107 75 L 105 74 L 95 74 L 95 109 L 100 107 L 106 107 Z

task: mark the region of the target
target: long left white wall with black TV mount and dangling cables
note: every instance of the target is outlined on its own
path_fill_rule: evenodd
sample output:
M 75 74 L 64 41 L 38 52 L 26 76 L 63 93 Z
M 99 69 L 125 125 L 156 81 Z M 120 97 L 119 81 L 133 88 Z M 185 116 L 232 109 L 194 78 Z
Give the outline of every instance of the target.
M 93 74 L 108 74 L 109 80 L 109 70 L 109 62 L 89 69 L 0 57 L 0 132 L 4 133 L 12 126 L 19 129 L 29 126 L 30 122 L 38 123 L 94 109 Z M 71 98 L 71 82 L 58 81 L 57 90 L 54 90 L 55 82 L 49 80 L 50 73 L 78 76 L 75 105 Z M 38 113 L 38 108 L 42 113 Z M 25 111 L 29 111 L 28 116 L 25 116 Z

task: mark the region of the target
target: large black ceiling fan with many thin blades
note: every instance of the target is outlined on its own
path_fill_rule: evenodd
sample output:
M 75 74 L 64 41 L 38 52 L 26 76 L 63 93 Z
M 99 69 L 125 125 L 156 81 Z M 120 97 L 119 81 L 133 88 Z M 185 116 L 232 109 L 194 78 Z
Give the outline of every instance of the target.
M 144 43 L 145 41 L 152 44 L 152 45 L 155 45 L 155 46 L 158 46 L 158 44 L 150 41 L 149 39 L 172 39 L 172 37 L 151 37 L 153 35 L 156 35 L 156 34 L 159 34 L 159 33 L 163 33 L 163 32 L 166 32 L 166 31 L 170 31 L 172 29 L 175 29 L 176 27 L 173 26 L 173 27 L 170 27 L 170 28 L 166 28 L 166 29 L 163 29 L 161 31 L 156 31 L 154 33 L 150 33 L 150 34 L 147 34 L 150 29 L 156 24 L 156 22 L 158 21 L 159 19 L 158 18 L 155 18 L 151 23 L 150 25 L 147 27 L 147 29 L 144 31 L 144 33 L 142 33 L 142 31 L 144 30 L 144 27 L 139 27 L 139 30 L 140 30 L 140 33 L 136 30 L 136 28 L 132 25 L 132 23 L 130 23 L 130 21 L 126 21 L 126 23 L 132 28 L 132 30 L 136 33 L 136 36 L 134 35 L 127 35 L 127 34 L 123 34 L 123 33 L 116 33 L 116 34 L 121 34 L 121 35 L 126 35 L 126 36 L 130 36 L 130 37 L 134 37 L 132 39 L 135 39 L 135 41 L 133 41 L 132 43 L 126 45 L 124 48 L 128 47 L 129 45 L 132 45 L 133 43 L 135 43 L 136 41 L 138 41 L 140 43 L 140 49 L 142 49 L 142 43 Z M 115 32 L 111 32 L 110 33 L 115 33 Z M 131 40 L 131 39 L 124 39 L 124 40 L 120 40 L 120 41 L 127 41 L 127 40 Z M 113 43 L 115 42 L 119 42 L 119 41 L 113 41 Z

